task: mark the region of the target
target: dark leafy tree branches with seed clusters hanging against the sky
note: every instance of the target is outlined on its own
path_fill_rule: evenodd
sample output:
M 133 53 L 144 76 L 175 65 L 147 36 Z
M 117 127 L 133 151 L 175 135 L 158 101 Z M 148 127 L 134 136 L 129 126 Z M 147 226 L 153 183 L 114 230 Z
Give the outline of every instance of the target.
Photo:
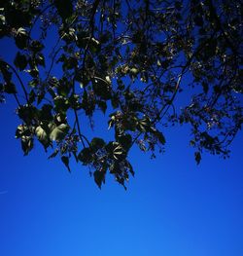
M 240 0 L 6 0 L 0 12 L 16 46 L 0 59 L 0 97 L 16 99 L 24 155 L 39 140 L 69 171 L 73 157 L 99 187 L 108 171 L 125 187 L 134 144 L 154 157 L 162 128 L 190 124 L 197 164 L 203 151 L 228 156 L 243 121 Z M 112 141 L 84 134 L 98 110 Z

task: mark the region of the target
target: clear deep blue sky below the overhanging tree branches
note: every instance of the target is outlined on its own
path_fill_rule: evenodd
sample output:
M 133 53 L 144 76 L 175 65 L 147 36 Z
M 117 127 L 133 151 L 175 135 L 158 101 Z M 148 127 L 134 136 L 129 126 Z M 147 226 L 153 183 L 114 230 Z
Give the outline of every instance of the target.
M 197 166 L 189 130 L 168 128 L 164 155 L 132 151 L 126 192 L 112 177 L 100 191 L 86 167 L 70 174 L 40 146 L 22 156 L 13 102 L 0 105 L 0 255 L 243 255 L 242 133 L 230 159 Z

